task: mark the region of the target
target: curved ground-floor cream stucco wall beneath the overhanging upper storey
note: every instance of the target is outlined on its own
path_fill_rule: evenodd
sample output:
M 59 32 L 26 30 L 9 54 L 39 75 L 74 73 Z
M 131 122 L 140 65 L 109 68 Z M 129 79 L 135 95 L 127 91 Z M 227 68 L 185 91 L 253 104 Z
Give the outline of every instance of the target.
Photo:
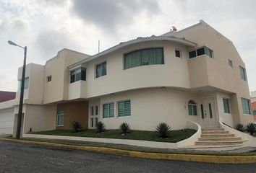
M 131 116 L 118 117 L 117 103 L 131 100 Z M 100 99 L 100 119 L 107 129 L 119 128 L 123 122 L 129 123 L 134 130 L 155 130 L 159 123 L 168 123 L 171 129 L 186 128 L 187 120 L 198 122 L 198 116 L 188 115 L 187 102 L 196 94 L 170 88 L 138 89 L 131 92 L 111 94 Z M 95 102 L 95 101 L 94 101 Z M 103 104 L 114 102 L 114 117 L 103 118 Z M 93 105 L 93 103 L 90 103 Z M 89 126 L 90 127 L 90 126 Z

